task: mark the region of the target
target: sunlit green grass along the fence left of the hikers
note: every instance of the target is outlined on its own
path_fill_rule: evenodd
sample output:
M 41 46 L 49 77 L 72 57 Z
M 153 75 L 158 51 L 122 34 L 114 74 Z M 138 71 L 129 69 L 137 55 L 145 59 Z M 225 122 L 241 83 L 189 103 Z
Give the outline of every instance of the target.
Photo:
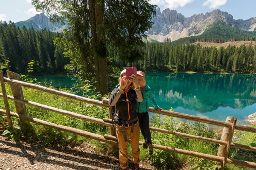
M 49 88 L 52 86 L 49 85 Z M 11 91 L 9 85 L 6 84 L 6 91 L 8 95 L 11 95 Z M 67 89 L 61 89 L 61 91 L 66 91 L 72 93 L 72 91 L 68 91 Z M 83 102 L 79 102 L 73 99 L 67 99 L 65 97 L 49 94 L 42 91 L 37 91 L 34 89 L 23 88 L 24 99 L 37 102 L 43 105 L 48 105 L 54 108 L 59 108 L 67 111 L 72 111 L 75 113 L 79 113 L 82 115 L 92 116 L 99 119 L 103 119 L 104 117 L 108 117 L 108 108 L 99 107 L 96 105 L 91 105 Z M 90 98 L 92 98 L 91 96 Z M 0 98 L 0 108 L 5 109 L 3 105 L 3 98 Z M 14 102 L 9 100 L 10 110 L 15 111 Z M 47 122 L 52 122 L 58 125 L 69 126 L 73 128 L 77 128 L 80 130 L 85 130 L 97 134 L 104 135 L 108 133 L 109 128 L 103 125 L 99 125 L 96 123 L 83 121 L 80 119 L 76 119 L 70 116 L 62 115 L 59 113 L 54 113 L 51 111 L 46 111 L 41 108 L 36 108 L 34 106 L 27 105 L 26 111 L 29 117 L 34 117 L 37 119 L 41 119 Z M 5 119 L 2 116 L 2 119 Z M 16 121 L 17 118 L 13 117 L 14 126 L 20 128 L 19 121 Z M 1 124 L 5 121 L 1 121 Z M 32 125 L 32 130 L 28 130 L 33 134 L 33 138 L 41 140 L 44 144 L 49 144 L 52 142 L 61 142 L 61 143 L 79 143 L 84 140 L 83 137 L 73 135 L 66 132 L 60 132 L 58 130 L 52 129 L 50 127 L 44 127 L 41 125 L 37 125 L 34 123 L 30 123 Z M 6 127 L 6 124 L 3 125 Z

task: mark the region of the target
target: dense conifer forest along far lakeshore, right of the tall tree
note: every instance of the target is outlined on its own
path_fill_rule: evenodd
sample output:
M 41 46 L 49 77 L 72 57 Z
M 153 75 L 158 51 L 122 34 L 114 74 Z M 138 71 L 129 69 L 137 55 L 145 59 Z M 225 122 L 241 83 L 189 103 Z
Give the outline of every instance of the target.
M 200 44 L 170 44 L 148 42 L 143 47 L 145 56 L 133 64 L 143 71 L 195 72 L 256 72 L 256 45 L 229 45 L 216 48 Z M 117 65 L 125 67 L 118 55 Z

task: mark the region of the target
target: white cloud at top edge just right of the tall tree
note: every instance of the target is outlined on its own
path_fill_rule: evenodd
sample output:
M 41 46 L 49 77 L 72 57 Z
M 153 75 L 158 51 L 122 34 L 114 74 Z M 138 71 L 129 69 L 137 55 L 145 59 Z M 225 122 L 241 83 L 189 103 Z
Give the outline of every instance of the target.
M 174 9 L 177 7 L 183 7 L 194 0 L 151 0 L 151 4 L 163 6 L 163 8 Z

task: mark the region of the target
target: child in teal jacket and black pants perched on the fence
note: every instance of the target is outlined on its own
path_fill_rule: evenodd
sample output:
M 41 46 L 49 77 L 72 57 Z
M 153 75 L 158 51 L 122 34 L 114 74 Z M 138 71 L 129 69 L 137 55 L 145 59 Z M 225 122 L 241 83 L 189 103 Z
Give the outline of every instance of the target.
M 162 108 L 160 108 L 157 105 L 157 101 L 151 92 L 151 88 L 148 87 L 148 85 L 146 85 L 145 74 L 142 71 L 137 71 L 137 83 L 140 86 L 140 89 L 143 94 L 143 102 L 136 102 L 136 109 L 138 112 L 140 130 L 144 137 L 144 142 L 142 146 L 144 149 L 148 148 L 148 154 L 152 155 L 153 147 L 151 142 L 151 132 L 149 130 L 148 99 L 150 100 L 154 108 L 157 109 L 158 111 L 162 110 Z

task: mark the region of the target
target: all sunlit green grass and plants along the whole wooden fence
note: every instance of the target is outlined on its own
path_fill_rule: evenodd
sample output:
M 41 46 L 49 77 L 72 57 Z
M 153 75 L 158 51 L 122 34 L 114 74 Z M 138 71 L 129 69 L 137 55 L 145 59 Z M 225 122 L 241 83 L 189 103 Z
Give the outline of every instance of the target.
M 47 84 L 47 87 L 52 88 L 51 83 Z M 78 88 L 79 89 L 79 88 Z M 89 89 L 88 87 L 81 89 Z M 10 87 L 6 84 L 6 91 L 8 95 L 11 95 Z M 61 91 L 66 91 L 68 93 L 73 93 L 68 89 L 64 88 Z M 83 91 L 84 92 L 84 91 Z M 73 99 L 67 99 L 61 96 L 56 96 L 53 94 L 48 94 L 45 92 L 23 88 L 24 98 L 29 101 L 38 102 L 44 105 L 49 105 L 55 108 L 72 111 L 75 113 L 83 114 L 86 116 L 96 117 L 99 119 L 108 117 L 108 108 L 103 108 L 83 102 L 78 102 Z M 84 96 L 97 99 L 96 93 L 92 92 Z M 12 100 L 9 100 L 10 110 L 15 112 L 15 105 Z M 3 105 L 3 98 L 0 98 L 0 108 L 5 109 Z M 40 108 L 33 106 L 26 106 L 28 116 L 35 117 L 37 119 L 45 120 L 48 122 L 56 123 L 58 125 L 65 125 L 69 127 L 74 127 L 80 130 L 89 131 L 92 133 L 97 133 L 100 135 L 109 134 L 109 128 L 103 125 L 98 125 L 96 123 L 82 121 L 80 119 L 75 119 L 70 116 L 53 113 L 50 111 L 45 111 Z M 60 143 L 63 145 L 67 144 L 79 144 L 84 141 L 90 141 L 95 144 L 95 149 L 101 152 L 111 153 L 118 157 L 118 149 L 115 148 L 114 151 L 110 150 L 109 144 L 102 145 L 102 142 L 88 139 L 82 136 L 78 136 L 72 133 L 67 133 L 59 130 L 52 129 L 50 127 L 44 127 L 31 123 L 31 128 L 24 128 L 20 125 L 19 119 L 12 117 L 14 124 L 14 131 L 7 128 L 7 120 L 5 115 L 0 114 L 0 126 L 3 126 L 5 129 L 1 133 L 6 133 L 7 136 L 14 140 L 18 138 L 33 138 L 35 140 L 41 141 L 43 144 L 51 143 Z M 202 123 L 184 123 L 177 120 L 174 120 L 172 117 L 166 116 L 164 119 L 161 119 L 158 114 L 152 117 L 151 126 L 159 127 L 166 130 L 174 130 L 182 133 L 188 133 L 191 135 L 204 136 L 212 139 L 219 139 L 216 135 L 219 130 L 210 130 L 205 124 Z M 253 125 L 256 127 L 256 125 Z M 187 139 L 180 136 L 175 136 L 171 134 L 163 134 L 155 131 L 151 131 L 152 142 L 154 144 L 160 144 L 169 147 L 175 147 L 184 150 L 191 150 L 200 153 L 206 153 L 211 155 L 217 155 L 218 144 L 211 144 L 209 142 L 202 142 L 194 139 Z M 256 133 L 248 133 L 243 131 L 235 131 L 234 134 L 235 143 L 245 144 L 249 146 L 256 147 Z M 140 136 L 140 141 L 143 141 L 143 136 Z M 130 146 L 130 144 L 129 144 Z M 219 167 L 215 164 L 215 161 L 210 161 L 206 159 L 199 159 L 192 156 L 182 155 L 178 153 L 167 152 L 163 150 L 154 149 L 152 156 L 148 155 L 147 150 L 143 149 L 140 146 L 140 159 L 143 161 L 149 159 L 152 164 L 154 164 L 158 169 L 169 170 L 169 169 L 178 169 L 183 166 L 189 166 L 190 170 L 217 170 Z M 129 156 L 132 155 L 131 147 L 128 149 Z M 250 151 L 242 151 L 236 148 L 231 147 L 229 158 L 232 159 L 242 159 L 246 161 L 256 161 L 256 153 Z M 226 170 L 248 170 L 246 167 L 235 166 L 232 164 L 227 164 Z

